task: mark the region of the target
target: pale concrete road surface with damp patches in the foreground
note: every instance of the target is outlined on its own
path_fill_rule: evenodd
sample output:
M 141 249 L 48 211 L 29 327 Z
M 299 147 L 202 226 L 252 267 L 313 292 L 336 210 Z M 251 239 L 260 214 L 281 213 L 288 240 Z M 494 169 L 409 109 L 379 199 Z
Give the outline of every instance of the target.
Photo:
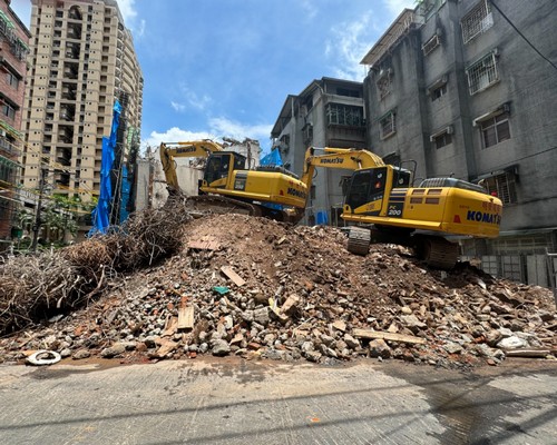
M 557 362 L 2 365 L 0 400 L 0 444 L 557 444 Z

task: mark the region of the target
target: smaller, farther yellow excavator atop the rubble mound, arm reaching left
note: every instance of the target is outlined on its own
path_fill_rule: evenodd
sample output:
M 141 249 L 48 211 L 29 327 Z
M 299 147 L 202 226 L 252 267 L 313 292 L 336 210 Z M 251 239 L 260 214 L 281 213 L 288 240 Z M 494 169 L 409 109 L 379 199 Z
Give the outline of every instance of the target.
M 304 215 L 307 187 L 282 167 L 246 169 L 246 157 L 212 140 L 163 142 L 160 161 L 169 194 L 180 188 L 175 158 L 206 158 L 199 196 L 188 197 L 190 210 L 234 211 L 297 222 Z

